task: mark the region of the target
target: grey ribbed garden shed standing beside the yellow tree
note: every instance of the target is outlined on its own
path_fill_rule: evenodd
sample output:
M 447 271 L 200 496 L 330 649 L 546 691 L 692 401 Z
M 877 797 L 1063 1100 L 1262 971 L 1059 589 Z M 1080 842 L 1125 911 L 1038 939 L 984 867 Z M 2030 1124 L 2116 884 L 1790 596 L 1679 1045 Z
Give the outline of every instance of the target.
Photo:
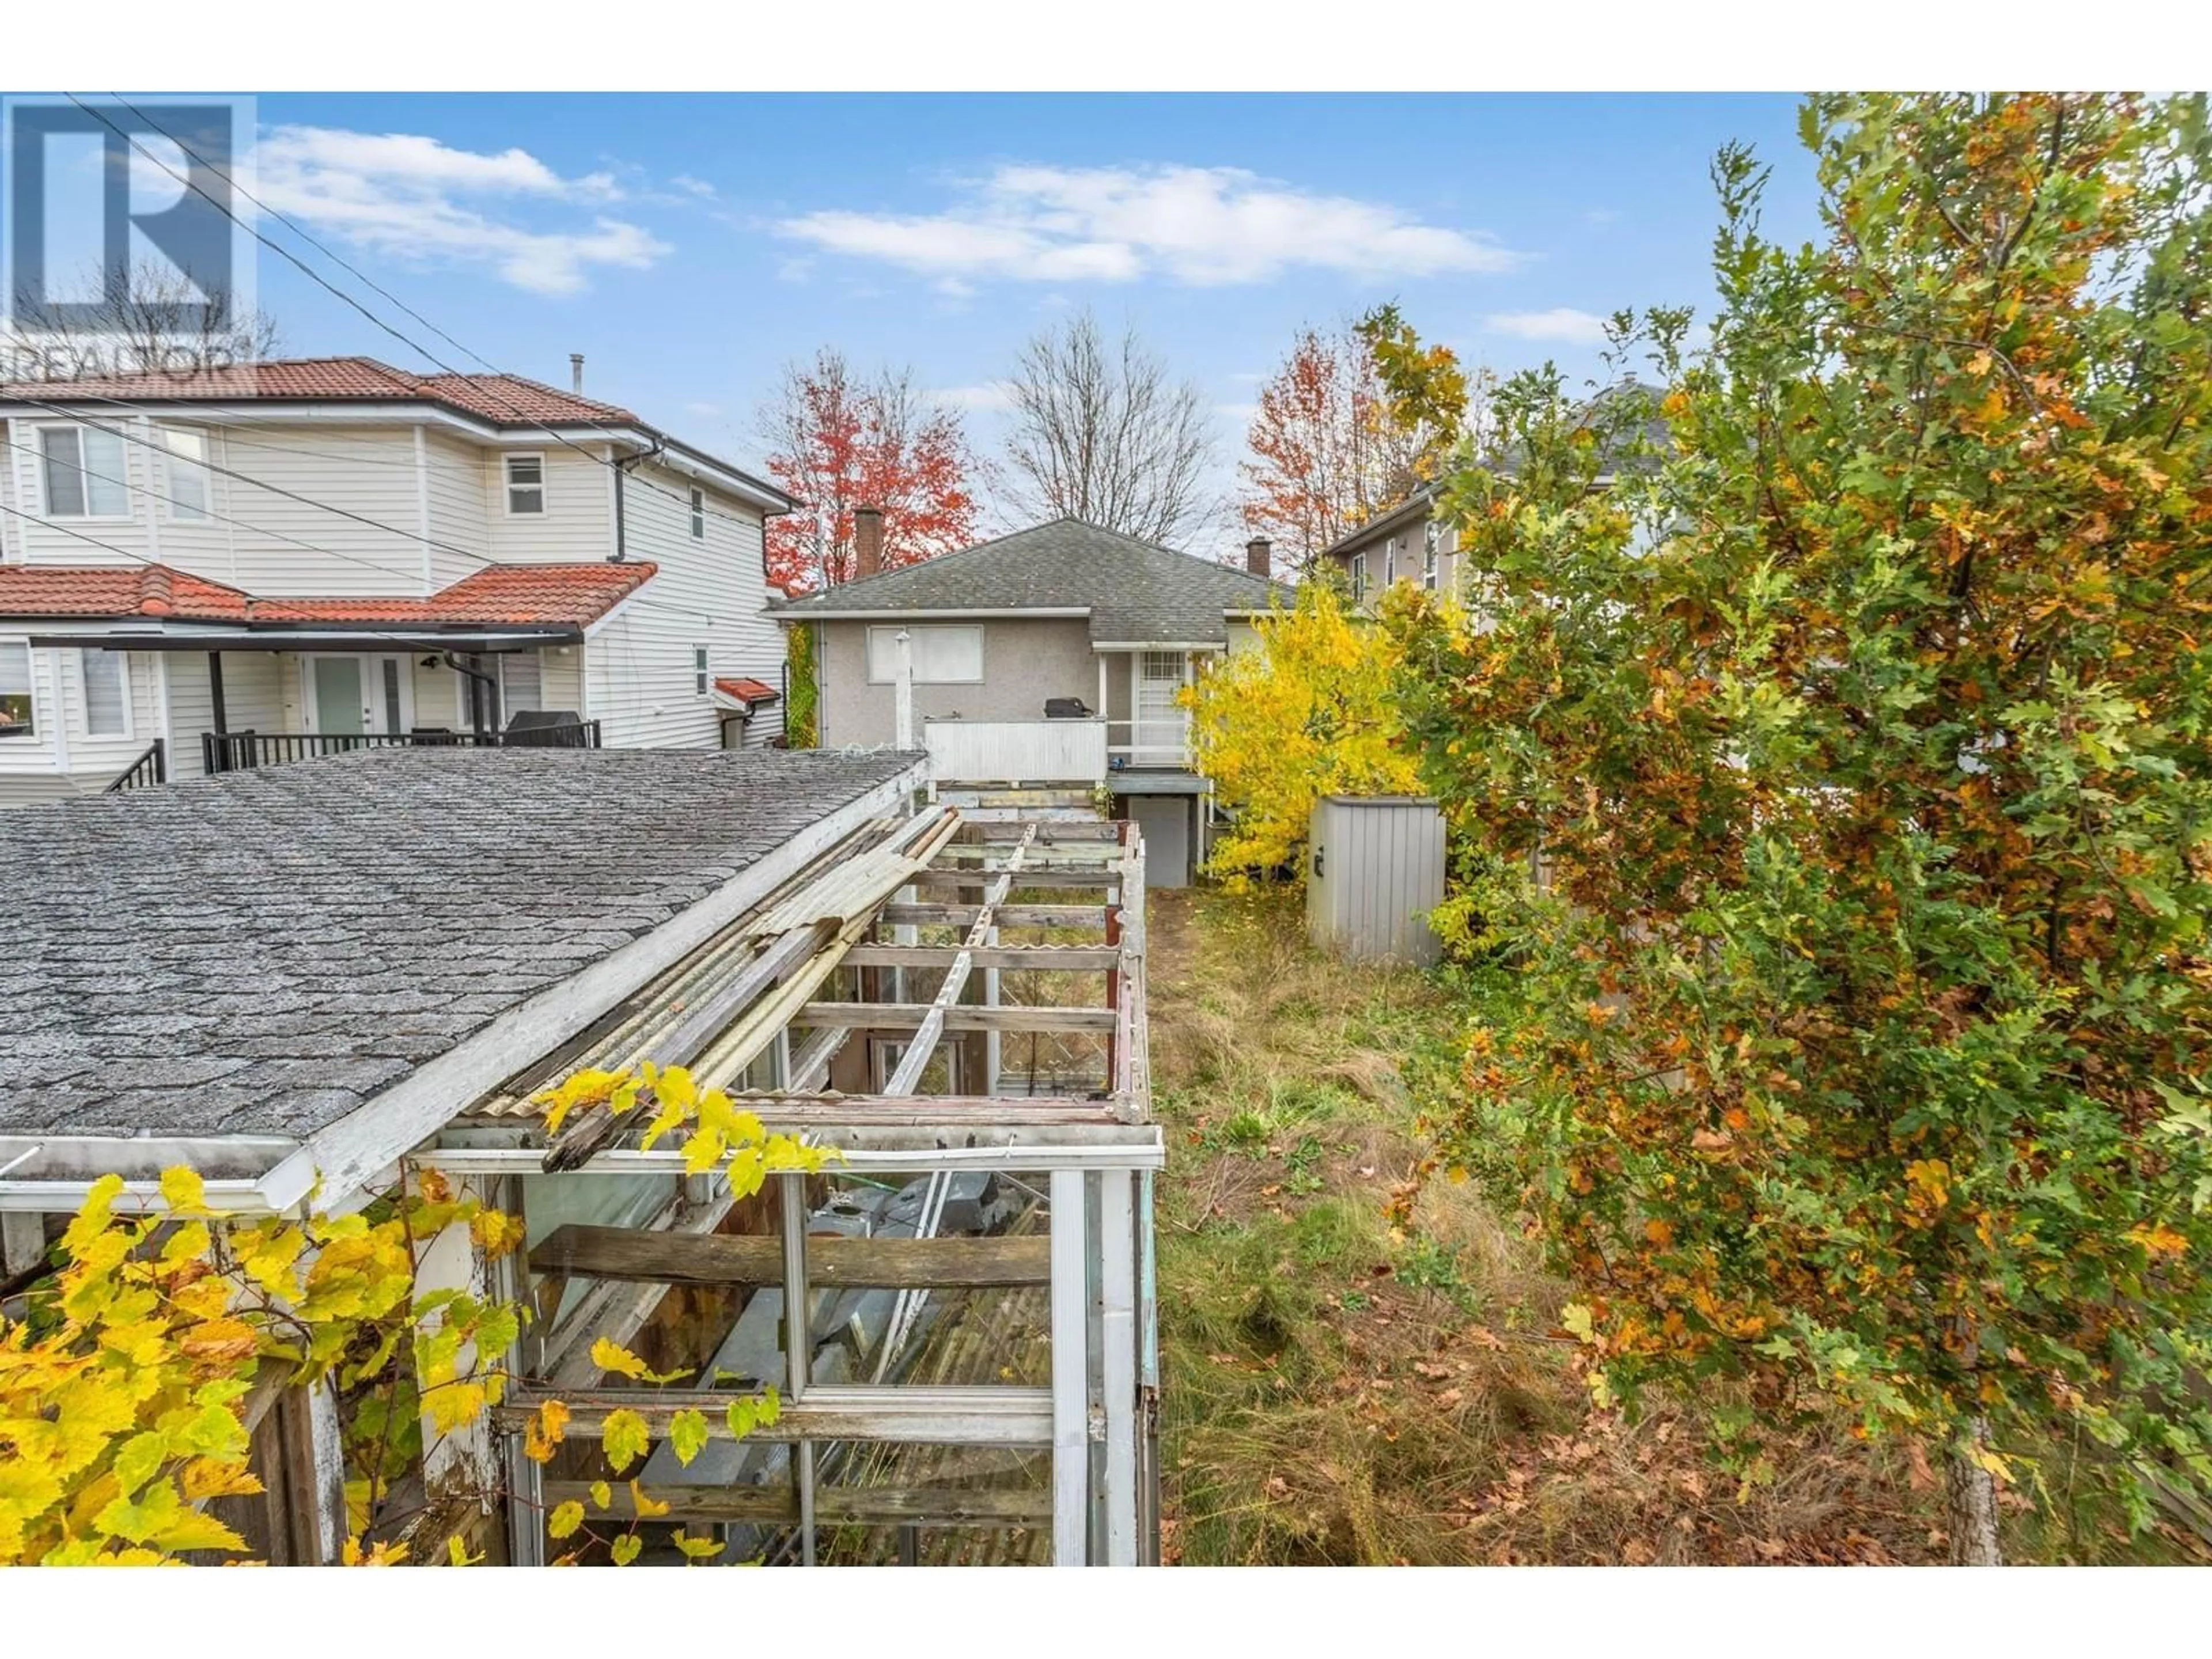
M 1305 852 L 1305 931 L 1354 962 L 1433 967 L 1444 902 L 1444 814 L 1418 794 L 1329 794 Z

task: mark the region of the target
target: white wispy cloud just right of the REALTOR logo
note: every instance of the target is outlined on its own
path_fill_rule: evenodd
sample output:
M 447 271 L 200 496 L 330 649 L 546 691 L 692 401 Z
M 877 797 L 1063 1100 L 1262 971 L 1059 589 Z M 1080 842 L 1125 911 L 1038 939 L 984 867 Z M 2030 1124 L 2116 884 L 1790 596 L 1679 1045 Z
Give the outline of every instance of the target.
M 670 252 L 653 232 L 599 208 L 619 201 L 611 173 L 564 179 L 529 150 L 456 150 L 411 133 L 279 126 L 254 157 L 259 195 L 321 234 L 392 259 L 489 265 L 538 294 L 573 294 L 595 265 L 644 270 Z M 546 208 L 586 221 L 535 228 Z

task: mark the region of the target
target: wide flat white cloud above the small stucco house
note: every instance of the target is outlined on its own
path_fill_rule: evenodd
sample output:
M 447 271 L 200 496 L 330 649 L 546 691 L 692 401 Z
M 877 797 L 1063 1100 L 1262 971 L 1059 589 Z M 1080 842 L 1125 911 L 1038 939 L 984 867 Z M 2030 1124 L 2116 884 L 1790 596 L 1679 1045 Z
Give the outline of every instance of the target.
M 1002 166 L 945 212 L 825 208 L 776 234 L 876 259 L 947 288 L 973 281 L 1263 283 L 1292 268 L 1358 276 L 1511 270 L 1520 254 L 1383 201 L 1332 197 L 1243 168 Z

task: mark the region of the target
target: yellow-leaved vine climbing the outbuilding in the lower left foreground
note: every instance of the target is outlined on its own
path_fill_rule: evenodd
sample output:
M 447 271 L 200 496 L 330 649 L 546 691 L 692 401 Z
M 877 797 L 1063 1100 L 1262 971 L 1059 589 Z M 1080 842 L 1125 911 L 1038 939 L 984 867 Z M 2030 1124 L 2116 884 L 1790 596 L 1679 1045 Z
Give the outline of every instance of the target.
M 739 1197 L 774 1170 L 818 1170 L 834 1152 L 770 1135 L 681 1066 L 593 1071 L 546 1091 L 549 1128 L 582 1106 L 644 1124 L 644 1144 L 675 1137 L 686 1168 L 714 1172 Z M 469 1429 L 507 1394 L 507 1354 L 524 1310 L 453 1287 L 420 1287 L 425 1243 L 467 1228 L 487 1256 L 522 1243 L 515 1217 L 456 1192 L 425 1168 L 400 1190 L 345 1217 L 223 1217 L 186 1168 L 161 1177 L 161 1203 L 139 1206 L 119 1177 L 93 1183 L 55 1245 L 53 1272 L 0 1314 L 0 1566 L 159 1564 L 186 1555 L 241 1559 L 246 1540 L 208 1511 L 261 1491 L 252 1471 L 254 1405 L 279 1387 L 336 1385 L 354 1398 L 343 1422 L 352 1509 L 347 1564 L 409 1559 L 407 1515 L 389 1513 L 425 1436 Z M 593 1345 L 602 1371 L 664 1385 L 617 1343 Z M 688 1464 L 708 1438 L 743 1438 L 776 1420 L 776 1396 L 732 1396 L 708 1420 L 677 1413 L 670 1444 Z M 551 1462 L 568 1409 L 549 1400 L 526 1427 L 524 1453 Z M 617 1411 L 602 1442 L 622 1478 L 648 1449 L 644 1418 Z M 482 1493 L 502 1498 L 504 1493 Z M 568 1502 L 546 1517 L 562 1559 L 637 1559 L 639 1522 L 668 1506 L 630 1482 L 617 1513 L 608 1482 L 591 1511 Z M 465 1540 L 431 1537 L 442 1555 L 478 1559 Z M 670 1540 L 690 1559 L 714 1540 Z

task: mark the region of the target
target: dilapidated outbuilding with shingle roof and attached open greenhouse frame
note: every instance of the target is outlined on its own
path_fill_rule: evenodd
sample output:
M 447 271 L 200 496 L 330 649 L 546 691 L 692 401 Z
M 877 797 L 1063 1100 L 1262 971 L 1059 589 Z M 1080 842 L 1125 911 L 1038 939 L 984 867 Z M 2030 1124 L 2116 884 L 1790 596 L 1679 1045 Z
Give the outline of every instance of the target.
M 546 1517 L 591 1489 L 619 1411 L 655 1440 L 613 1498 L 653 1520 L 648 1562 L 681 1559 L 675 1528 L 805 1566 L 1157 1557 L 1164 1148 L 1133 825 L 1077 796 L 938 801 L 911 754 L 372 752 L 161 799 L 184 796 L 0 825 L 58 849 L 29 876 L 24 971 L 62 989 L 46 1031 L 69 1037 L 0 1040 L 35 1084 L 0 1108 L 11 1270 L 104 1172 L 155 1201 L 188 1164 L 248 1214 L 434 1179 L 524 1243 L 487 1256 L 451 1228 L 420 1283 L 529 1316 L 498 1407 L 425 1436 L 392 1526 L 573 1553 Z M 396 818 L 436 854 L 396 860 Z M 310 869 L 312 905 L 272 885 Z M 161 918 L 137 991 L 91 982 L 86 883 L 117 925 Z M 201 987 L 159 1044 L 148 980 Z M 644 1062 L 832 1152 L 734 1197 L 604 1104 L 549 1128 L 551 1086 Z M 602 1340 L 684 1380 L 608 1374 Z M 719 1425 L 770 1387 L 781 1411 L 743 1438 L 670 1447 L 679 1413 Z M 566 1442 L 529 1458 L 544 1400 Z M 257 1418 L 270 1491 L 228 1502 L 270 1559 L 358 1531 L 343 1409 L 290 1389 Z

